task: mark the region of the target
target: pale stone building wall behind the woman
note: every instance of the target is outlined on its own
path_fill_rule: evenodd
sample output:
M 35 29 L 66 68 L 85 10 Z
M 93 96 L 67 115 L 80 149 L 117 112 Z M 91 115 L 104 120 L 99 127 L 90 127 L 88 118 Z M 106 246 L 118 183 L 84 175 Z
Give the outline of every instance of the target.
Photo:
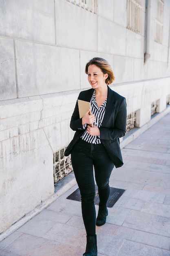
M 95 56 L 128 120 L 146 124 L 170 102 L 170 1 L 0 0 L 0 233 L 71 171 L 69 123 Z

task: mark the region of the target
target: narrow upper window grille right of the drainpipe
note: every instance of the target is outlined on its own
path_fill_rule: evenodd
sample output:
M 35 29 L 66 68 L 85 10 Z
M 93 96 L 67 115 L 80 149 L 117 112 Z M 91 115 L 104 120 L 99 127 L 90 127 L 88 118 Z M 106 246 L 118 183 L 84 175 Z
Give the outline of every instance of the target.
M 162 43 L 163 31 L 163 5 L 164 0 L 157 0 L 157 13 L 155 18 L 155 42 Z

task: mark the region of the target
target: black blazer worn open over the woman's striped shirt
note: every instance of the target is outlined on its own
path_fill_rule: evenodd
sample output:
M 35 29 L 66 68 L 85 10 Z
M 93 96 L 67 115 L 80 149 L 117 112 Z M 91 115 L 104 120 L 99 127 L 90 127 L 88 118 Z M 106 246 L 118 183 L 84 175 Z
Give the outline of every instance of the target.
M 93 91 L 94 89 L 89 89 L 80 92 L 78 99 L 90 102 Z M 106 151 L 116 168 L 123 165 L 119 146 L 119 137 L 123 137 L 126 133 L 126 115 L 126 99 L 108 87 L 106 112 L 102 126 L 99 128 L 99 130 L 101 143 L 106 148 Z M 71 149 L 84 133 L 82 119 L 79 118 L 77 102 L 71 117 L 70 127 L 76 132 L 73 140 L 70 142 L 64 152 L 65 156 L 68 156 L 71 153 Z

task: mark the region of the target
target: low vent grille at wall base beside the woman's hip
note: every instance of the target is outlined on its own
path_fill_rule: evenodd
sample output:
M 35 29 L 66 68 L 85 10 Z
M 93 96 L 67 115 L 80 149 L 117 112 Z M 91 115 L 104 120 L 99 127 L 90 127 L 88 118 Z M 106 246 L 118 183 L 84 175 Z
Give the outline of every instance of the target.
M 62 148 L 54 153 L 54 184 L 73 171 L 70 155 L 68 157 L 64 156 L 65 149 Z

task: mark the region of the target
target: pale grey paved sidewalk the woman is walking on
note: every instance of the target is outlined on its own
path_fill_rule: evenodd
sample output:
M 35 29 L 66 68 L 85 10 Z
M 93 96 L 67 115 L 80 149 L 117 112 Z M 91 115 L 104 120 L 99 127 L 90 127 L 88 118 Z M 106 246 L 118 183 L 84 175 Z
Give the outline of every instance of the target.
M 136 129 L 127 138 L 131 141 L 122 149 L 124 166 L 114 168 L 110 177 L 111 187 L 126 191 L 108 208 L 106 224 L 96 229 L 98 256 L 170 256 L 167 113 L 139 136 Z M 59 183 L 49 206 L 44 204 L 40 213 L 0 242 L 0 256 L 82 256 L 86 233 L 81 203 L 66 199 L 77 189 L 73 173 Z M 71 184 L 70 189 L 60 192 L 63 184 Z

